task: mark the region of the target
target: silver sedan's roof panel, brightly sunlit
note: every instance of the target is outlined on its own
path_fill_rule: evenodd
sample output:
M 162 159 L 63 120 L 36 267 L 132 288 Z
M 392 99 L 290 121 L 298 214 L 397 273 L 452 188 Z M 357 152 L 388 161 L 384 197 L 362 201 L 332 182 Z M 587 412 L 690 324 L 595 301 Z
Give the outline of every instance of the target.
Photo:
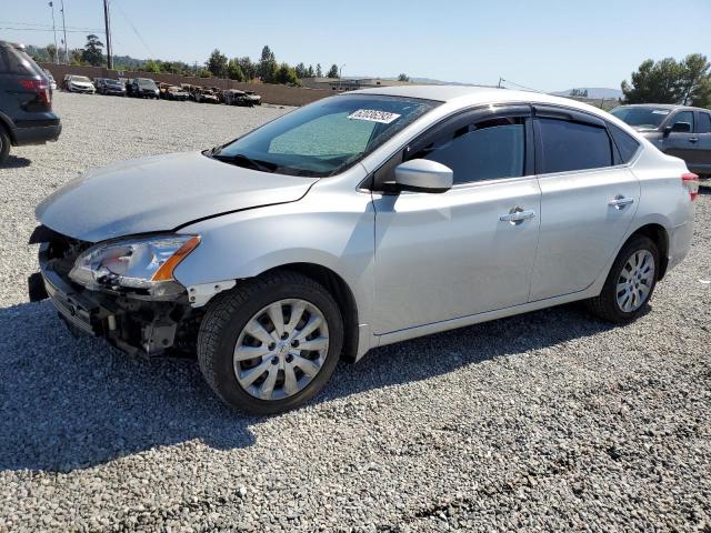
M 514 91 L 495 87 L 473 86 L 395 86 L 374 89 L 361 89 L 341 94 L 373 94 L 385 97 L 419 98 L 441 102 L 455 102 L 461 105 L 477 105 L 499 102 L 552 103 L 580 109 L 595 114 L 604 113 L 601 109 L 579 102 L 570 98 L 554 97 L 543 92 Z M 605 113 L 607 114 L 607 113 Z

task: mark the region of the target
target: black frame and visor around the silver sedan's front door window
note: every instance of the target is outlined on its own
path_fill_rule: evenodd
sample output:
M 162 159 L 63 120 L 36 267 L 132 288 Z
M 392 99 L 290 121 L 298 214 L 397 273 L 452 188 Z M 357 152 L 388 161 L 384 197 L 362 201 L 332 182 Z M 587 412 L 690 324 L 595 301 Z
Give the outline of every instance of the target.
M 375 170 L 370 172 L 368 177 L 358 185 L 357 190 L 387 193 L 380 188 L 375 187 L 377 174 L 389 167 L 397 167 L 401 162 L 407 161 L 405 152 L 417 149 L 419 144 L 429 144 L 430 139 L 442 134 L 443 130 L 449 130 L 453 124 L 471 124 L 472 122 L 480 121 L 488 117 L 521 117 L 525 120 L 525 147 L 524 147 L 524 162 L 523 162 L 523 175 L 515 175 L 510 178 L 492 178 L 489 180 L 477 180 L 464 183 L 455 183 L 452 189 L 462 189 L 469 187 L 478 187 L 484 184 L 493 184 L 501 181 L 511 180 L 524 180 L 535 177 L 535 149 L 534 149 L 534 133 L 532 118 L 533 112 L 530 102 L 505 102 L 505 103 L 485 103 L 477 104 L 471 108 L 460 109 L 455 112 L 443 117 L 437 123 L 430 125 L 427 130 L 421 132 L 414 139 L 410 140 L 405 144 L 402 144 L 398 150 L 392 152 L 385 160 L 378 165 Z M 460 127 L 461 127 L 460 125 Z M 429 141 L 429 142 L 428 142 Z M 393 161 L 394 158 L 401 157 L 401 161 Z M 389 170 L 385 170 L 389 172 Z

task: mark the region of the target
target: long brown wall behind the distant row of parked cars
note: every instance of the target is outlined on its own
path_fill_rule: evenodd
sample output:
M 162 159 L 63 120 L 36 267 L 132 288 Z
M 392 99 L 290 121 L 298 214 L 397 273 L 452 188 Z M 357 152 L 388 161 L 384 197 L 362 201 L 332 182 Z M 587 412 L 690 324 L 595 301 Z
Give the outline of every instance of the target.
M 87 78 L 113 78 L 119 77 L 116 70 L 108 70 L 101 67 L 74 67 L 69 64 L 39 63 L 43 69 L 49 70 L 61 87 L 66 74 L 86 76 Z M 321 89 L 307 89 L 302 87 L 287 87 L 271 83 L 239 83 L 232 80 L 219 78 L 196 78 L 192 76 L 179 74 L 154 74 L 152 72 L 123 71 L 122 78 L 150 78 L 158 82 L 190 83 L 193 86 L 219 87 L 220 89 L 240 89 L 242 91 L 254 91 L 261 94 L 263 103 L 274 103 L 279 105 L 304 105 L 326 97 L 330 97 L 334 91 Z

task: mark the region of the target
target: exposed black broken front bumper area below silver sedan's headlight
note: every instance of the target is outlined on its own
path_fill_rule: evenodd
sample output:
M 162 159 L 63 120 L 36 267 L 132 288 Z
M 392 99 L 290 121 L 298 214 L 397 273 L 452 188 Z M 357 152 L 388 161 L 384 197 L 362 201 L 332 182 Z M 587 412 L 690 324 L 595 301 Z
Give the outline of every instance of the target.
M 187 293 L 170 301 L 142 294 L 91 291 L 69 280 L 57 242 L 40 244 L 40 272 L 28 280 L 30 301 L 49 299 L 72 332 L 107 339 L 127 353 L 156 356 L 167 350 L 194 351 L 199 311 Z

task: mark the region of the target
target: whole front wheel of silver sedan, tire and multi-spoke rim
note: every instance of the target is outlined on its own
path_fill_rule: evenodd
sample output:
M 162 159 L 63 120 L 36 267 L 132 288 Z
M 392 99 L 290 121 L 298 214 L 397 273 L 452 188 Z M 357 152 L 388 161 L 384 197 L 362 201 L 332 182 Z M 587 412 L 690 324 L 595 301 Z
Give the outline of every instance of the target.
M 331 378 L 343 320 L 331 294 L 296 272 L 276 272 L 216 296 L 200 324 L 198 360 L 229 405 L 273 414 L 302 405 Z

